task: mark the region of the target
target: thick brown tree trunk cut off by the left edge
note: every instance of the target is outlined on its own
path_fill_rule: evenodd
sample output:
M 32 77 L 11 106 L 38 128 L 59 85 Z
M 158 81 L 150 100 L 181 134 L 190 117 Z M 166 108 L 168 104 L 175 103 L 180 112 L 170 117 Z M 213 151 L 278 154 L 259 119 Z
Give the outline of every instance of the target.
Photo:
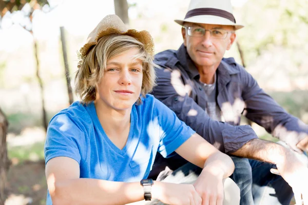
M 4 189 L 7 183 L 7 171 L 9 168 L 9 159 L 7 155 L 6 135 L 8 129 L 8 121 L 0 109 L 0 205 L 4 204 Z

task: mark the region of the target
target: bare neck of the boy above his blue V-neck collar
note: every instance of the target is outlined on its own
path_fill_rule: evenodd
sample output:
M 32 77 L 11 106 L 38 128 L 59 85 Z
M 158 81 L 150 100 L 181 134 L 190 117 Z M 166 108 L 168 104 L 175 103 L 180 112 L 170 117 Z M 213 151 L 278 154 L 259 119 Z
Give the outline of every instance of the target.
M 131 109 L 115 110 L 105 103 L 95 101 L 95 109 L 107 136 L 122 136 L 130 128 Z

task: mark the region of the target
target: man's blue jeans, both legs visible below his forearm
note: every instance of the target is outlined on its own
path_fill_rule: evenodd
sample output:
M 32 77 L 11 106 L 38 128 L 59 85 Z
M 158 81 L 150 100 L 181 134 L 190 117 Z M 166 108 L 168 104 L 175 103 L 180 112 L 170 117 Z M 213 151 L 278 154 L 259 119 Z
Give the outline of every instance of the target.
M 241 190 L 242 205 L 288 205 L 293 197 L 292 188 L 279 175 L 269 172 L 275 165 L 241 157 L 231 157 L 235 171 L 230 176 Z

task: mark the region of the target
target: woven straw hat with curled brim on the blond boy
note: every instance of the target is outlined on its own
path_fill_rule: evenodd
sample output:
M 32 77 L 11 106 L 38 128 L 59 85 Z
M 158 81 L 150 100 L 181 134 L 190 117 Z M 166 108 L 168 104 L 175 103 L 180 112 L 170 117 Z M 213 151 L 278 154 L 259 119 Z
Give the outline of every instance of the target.
M 132 36 L 144 45 L 145 50 L 150 55 L 154 55 L 154 42 L 150 33 L 148 31 L 137 31 L 134 29 L 128 30 L 120 17 L 113 14 L 105 16 L 97 27 L 95 27 L 89 34 L 87 43 L 80 49 L 79 57 L 84 59 L 91 47 L 97 45 L 98 40 L 101 37 L 109 34 L 124 34 Z

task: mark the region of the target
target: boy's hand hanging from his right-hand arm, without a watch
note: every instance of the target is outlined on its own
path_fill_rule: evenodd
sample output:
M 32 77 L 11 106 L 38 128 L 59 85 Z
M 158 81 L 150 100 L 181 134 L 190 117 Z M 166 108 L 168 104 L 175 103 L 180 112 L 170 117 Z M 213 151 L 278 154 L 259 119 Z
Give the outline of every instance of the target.
M 202 198 L 202 205 L 222 205 L 223 175 L 223 170 L 215 169 L 210 165 L 202 170 L 194 184 L 196 191 Z

